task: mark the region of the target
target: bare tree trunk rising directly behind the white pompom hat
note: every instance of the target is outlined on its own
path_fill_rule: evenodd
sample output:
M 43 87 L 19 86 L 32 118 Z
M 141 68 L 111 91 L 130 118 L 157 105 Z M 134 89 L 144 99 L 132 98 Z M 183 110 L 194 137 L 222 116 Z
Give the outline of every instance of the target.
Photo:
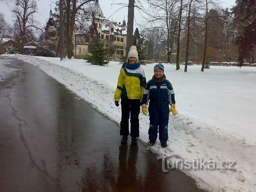
M 126 38 L 126 57 L 133 43 L 133 20 L 134 20 L 134 3 L 135 0 L 129 0 L 128 20 L 127 20 L 127 38 Z

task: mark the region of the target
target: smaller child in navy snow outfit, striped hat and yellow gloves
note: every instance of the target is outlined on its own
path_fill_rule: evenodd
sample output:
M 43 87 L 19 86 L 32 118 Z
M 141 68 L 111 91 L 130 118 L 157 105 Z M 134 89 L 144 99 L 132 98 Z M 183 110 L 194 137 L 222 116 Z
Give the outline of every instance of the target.
M 149 102 L 150 101 L 150 102 Z M 147 111 L 147 104 L 149 107 Z M 171 106 L 169 110 L 169 104 Z M 162 147 L 167 147 L 169 112 L 176 115 L 175 98 L 172 84 L 166 80 L 164 66 L 154 66 L 154 76 L 148 81 L 142 99 L 142 113 L 149 112 L 150 126 L 148 130 L 148 145 L 154 145 L 159 132 Z

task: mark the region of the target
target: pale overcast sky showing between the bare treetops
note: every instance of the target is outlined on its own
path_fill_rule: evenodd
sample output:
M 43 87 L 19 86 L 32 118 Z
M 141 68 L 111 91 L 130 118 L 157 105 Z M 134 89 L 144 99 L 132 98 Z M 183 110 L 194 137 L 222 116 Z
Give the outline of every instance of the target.
M 223 0 L 222 7 L 232 7 L 235 5 L 236 0 Z M 99 0 L 99 4 L 101 6 L 102 12 L 106 18 L 109 18 L 110 20 L 122 22 L 124 19 L 127 22 L 127 14 L 128 14 L 128 8 L 120 8 L 120 5 L 111 5 L 116 3 L 127 3 L 129 0 Z M 46 25 L 46 20 L 49 18 L 49 12 L 50 12 L 50 4 L 52 4 L 52 10 L 54 11 L 55 6 L 55 0 L 38 0 L 38 14 L 36 14 L 36 19 L 41 23 L 42 26 Z M 5 16 L 5 20 L 12 24 L 12 20 L 14 20 L 11 9 L 12 4 L 4 4 L 0 2 L 0 12 L 2 12 Z M 116 10 L 118 10 L 116 13 L 114 13 Z M 113 16 L 111 16 L 114 13 Z M 140 23 L 143 19 L 140 15 L 140 12 L 138 12 L 137 9 L 134 11 L 135 15 L 135 21 L 134 21 L 134 29 L 137 27 L 136 22 Z

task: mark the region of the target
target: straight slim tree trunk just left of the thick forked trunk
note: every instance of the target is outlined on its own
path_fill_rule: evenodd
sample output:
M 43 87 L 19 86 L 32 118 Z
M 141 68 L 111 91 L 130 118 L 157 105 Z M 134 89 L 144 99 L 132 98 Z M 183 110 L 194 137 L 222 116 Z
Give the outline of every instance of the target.
M 63 14 L 63 0 L 60 0 L 60 41 L 59 41 L 59 50 L 60 50 L 60 60 L 65 58 L 65 44 L 64 44 L 64 14 Z

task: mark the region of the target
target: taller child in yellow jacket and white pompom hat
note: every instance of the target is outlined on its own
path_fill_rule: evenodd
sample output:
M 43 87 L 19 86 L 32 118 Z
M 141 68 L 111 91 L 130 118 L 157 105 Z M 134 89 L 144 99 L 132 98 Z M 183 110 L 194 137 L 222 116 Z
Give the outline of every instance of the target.
M 119 106 L 121 98 L 122 118 L 120 122 L 121 144 L 126 144 L 129 135 L 129 118 L 131 124 L 130 136 L 132 144 L 137 144 L 139 137 L 139 114 L 140 100 L 146 87 L 144 69 L 140 66 L 136 46 L 131 46 L 128 59 L 122 65 L 118 77 L 116 92 L 114 95 L 115 105 Z

